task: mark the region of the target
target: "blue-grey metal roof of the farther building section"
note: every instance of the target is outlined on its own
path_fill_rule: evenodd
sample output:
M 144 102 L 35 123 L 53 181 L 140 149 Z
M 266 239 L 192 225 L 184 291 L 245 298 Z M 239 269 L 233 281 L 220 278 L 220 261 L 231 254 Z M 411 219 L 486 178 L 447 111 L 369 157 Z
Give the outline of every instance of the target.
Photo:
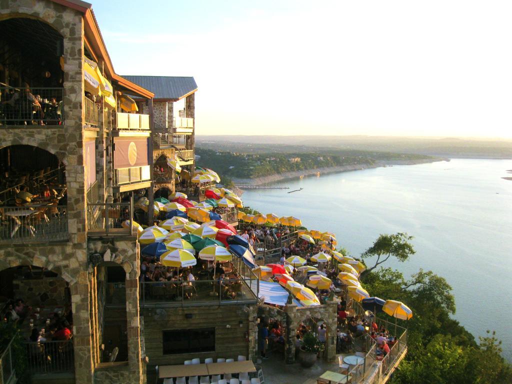
M 122 76 L 155 94 L 155 99 L 179 100 L 197 91 L 194 77 Z

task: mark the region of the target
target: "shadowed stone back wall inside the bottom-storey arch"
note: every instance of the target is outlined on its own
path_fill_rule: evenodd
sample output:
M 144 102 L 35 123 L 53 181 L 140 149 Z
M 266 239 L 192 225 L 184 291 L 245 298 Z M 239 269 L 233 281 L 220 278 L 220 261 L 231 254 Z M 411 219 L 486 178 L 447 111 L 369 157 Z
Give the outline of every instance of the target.
M 61 278 L 15 279 L 14 297 L 34 306 L 66 306 L 70 303 L 68 283 Z

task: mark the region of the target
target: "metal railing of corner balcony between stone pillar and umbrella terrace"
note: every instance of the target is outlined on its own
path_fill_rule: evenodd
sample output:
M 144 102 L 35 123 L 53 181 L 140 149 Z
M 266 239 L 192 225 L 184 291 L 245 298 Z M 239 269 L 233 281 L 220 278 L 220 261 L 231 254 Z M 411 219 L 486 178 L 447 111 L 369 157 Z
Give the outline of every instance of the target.
M 131 202 L 87 204 L 87 229 L 90 234 L 110 233 L 131 236 L 133 204 Z

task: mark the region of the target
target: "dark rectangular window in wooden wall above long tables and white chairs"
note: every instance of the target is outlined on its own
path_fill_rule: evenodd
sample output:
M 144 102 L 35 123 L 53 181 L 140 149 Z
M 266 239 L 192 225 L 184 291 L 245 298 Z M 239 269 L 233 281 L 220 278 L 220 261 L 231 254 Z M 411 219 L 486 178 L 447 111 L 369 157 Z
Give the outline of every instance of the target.
M 215 328 L 162 331 L 163 354 L 215 352 Z

